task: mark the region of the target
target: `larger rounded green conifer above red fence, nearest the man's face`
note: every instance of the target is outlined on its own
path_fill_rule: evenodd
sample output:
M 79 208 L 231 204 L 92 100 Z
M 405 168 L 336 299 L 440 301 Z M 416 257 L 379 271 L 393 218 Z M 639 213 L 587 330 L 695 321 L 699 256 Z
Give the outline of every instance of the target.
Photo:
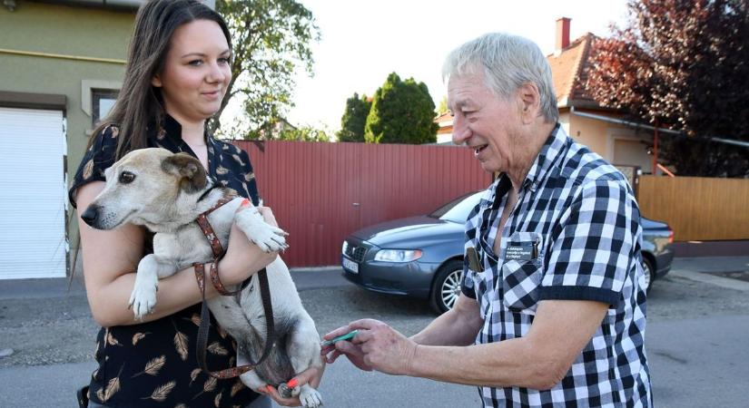
M 438 128 L 427 85 L 413 78 L 401 81 L 397 73 L 390 73 L 374 94 L 364 139 L 368 143 L 433 143 Z

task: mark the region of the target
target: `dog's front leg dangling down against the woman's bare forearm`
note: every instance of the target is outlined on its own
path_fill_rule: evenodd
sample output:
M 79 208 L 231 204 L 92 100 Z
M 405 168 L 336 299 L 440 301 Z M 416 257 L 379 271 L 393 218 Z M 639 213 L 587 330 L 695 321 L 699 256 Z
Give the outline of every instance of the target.
M 133 307 L 136 320 L 143 320 L 143 316 L 151 313 L 156 306 L 156 290 L 159 279 L 172 276 L 176 272 L 173 262 L 161 259 L 153 254 L 146 255 L 138 264 L 135 274 L 135 286 L 130 295 L 129 306 Z

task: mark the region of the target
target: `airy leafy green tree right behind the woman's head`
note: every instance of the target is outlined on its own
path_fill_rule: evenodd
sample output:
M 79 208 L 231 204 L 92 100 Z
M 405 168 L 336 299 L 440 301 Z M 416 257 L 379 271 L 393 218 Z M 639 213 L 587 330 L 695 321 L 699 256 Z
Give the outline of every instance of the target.
M 312 74 L 310 43 L 320 40 L 320 29 L 310 10 L 294 0 L 217 0 L 216 10 L 232 33 L 232 82 L 209 129 L 258 138 L 293 106 L 296 70 Z M 230 101 L 241 117 L 222 126 Z

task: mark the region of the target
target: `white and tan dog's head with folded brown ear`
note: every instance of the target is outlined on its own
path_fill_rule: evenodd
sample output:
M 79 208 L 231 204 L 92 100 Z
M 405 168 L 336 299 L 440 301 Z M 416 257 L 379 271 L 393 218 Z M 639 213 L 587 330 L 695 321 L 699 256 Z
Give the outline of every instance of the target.
M 106 186 L 81 214 L 97 229 L 130 222 L 158 225 L 177 213 L 181 199 L 192 199 L 206 188 L 200 160 L 165 149 L 131 151 L 104 172 Z M 190 196 L 189 198 L 187 196 Z

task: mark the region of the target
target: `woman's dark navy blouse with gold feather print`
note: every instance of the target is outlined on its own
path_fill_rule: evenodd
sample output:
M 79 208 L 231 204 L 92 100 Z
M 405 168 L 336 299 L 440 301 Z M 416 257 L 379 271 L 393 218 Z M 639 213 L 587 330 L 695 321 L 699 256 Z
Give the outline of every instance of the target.
M 114 162 L 118 133 L 118 128 L 109 126 L 95 136 L 69 191 L 74 207 L 77 189 L 104 180 L 104 170 Z M 160 126 L 150 126 L 148 133 L 150 147 L 195 155 L 182 141 L 179 122 L 170 116 Z M 247 152 L 207 134 L 205 138 L 209 174 L 257 205 L 258 190 Z M 195 343 L 200 316 L 198 304 L 153 322 L 102 327 L 94 353 L 99 367 L 92 374 L 89 399 L 108 407 L 234 407 L 253 401 L 257 393 L 239 378 L 217 380 L 198 366 Z M 206 360 L 212 370 L 236 363 L 232 337 L 213 318 Z

